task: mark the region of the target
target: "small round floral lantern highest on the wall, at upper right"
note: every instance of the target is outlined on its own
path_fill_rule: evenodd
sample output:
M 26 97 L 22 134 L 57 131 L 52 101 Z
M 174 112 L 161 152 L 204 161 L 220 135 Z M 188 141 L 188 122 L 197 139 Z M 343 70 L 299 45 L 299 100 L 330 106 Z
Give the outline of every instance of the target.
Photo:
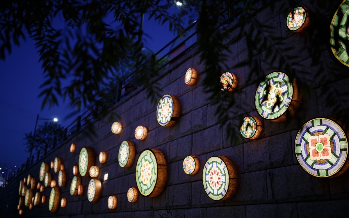
M 305 30 L 310 25 L 308 9 L 295 7 L 288 14 L 286 25 L 290 30 L 295 32 Z

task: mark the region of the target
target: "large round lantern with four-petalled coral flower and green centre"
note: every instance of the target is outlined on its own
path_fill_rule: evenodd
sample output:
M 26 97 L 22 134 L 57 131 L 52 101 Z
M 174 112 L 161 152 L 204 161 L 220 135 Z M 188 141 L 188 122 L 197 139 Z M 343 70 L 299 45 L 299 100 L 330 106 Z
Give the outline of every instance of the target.
M 349 167 L 348 141 L 332 120 L 315 118 L 304 124 L 295 140 L 295 151 L 303 169 L 317 177 L 339 176 Z

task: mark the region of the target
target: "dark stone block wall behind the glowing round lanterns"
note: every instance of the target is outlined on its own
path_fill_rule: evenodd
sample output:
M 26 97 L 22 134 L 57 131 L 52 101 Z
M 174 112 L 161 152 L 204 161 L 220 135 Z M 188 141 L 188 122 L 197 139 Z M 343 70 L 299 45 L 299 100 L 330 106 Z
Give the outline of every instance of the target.
M 298 5 L 307 7 L 312 13 L 312 25 L 322 29 L 325 35 L 319 39 L 320 52 L 311 53 L 309 38 L 311 31 L 294 33 L 287 29 L 285 20 L 287 13 Z M 136 90 L 117 104 L 113 112 L 120 115 L 123 125 L 120 135 L 111 133 L 113 123 L 107 118 L 96 121 L 96 138 L 90 138 L 81 133 L 66 144 L 50 153 L 42 161 L 53 161 L 60 157 L 65 165 L 68 182 L 61 188 L 61 197 L 67 198 L 66 208 L 59 208 L 51 213 L 46 203 L 34 206 L 32 210 L 24 206 L 23 217 L 160 217 L 165 213 L 169 217 L 310 217 L 331 216 L 346 217 L 349 213 L 349 175 L 336 178 L 318 178 L 305 172 L 299 165 L 294 151 L 294 143 L 299 128 L 306 121 L 316 117 L 332 117 L 341 120 L 338 107 L 345 112 L 348 109 L 348 69 L 342 68 L 333 59 L 328 50 L 328 29 L 332 16 L 341 1 L 331 1 L 324 6 L 317 1 L 275 1 L 274 7 L 263 7 L 256 14 L 261 23 L 273 27 L 272 35 L 279 37 L 272 45 L 276 50 L 288 52 L 295 57 L 287 60 L 290 69 L 301 83 L 309 89 L 303 90 L 303 102 L 296 116 L 287 122 L 276 123 L 262 120 L 263 133 L 258 140 L 243 140 L 238 134 L 231 141 L 227 139 L 227 125 L 221 127 L 215 114 L 218 105 L 208 100 L 209 93 L 204 92 L 203 78 L 200 74 L 204 64 L 195 48 L 188 51 L 185 57 L 173 63 L 164 73 L 158 84 L 161 91 L 158 95 L 170 94 L 177 96 L 181 103 L 181 117 L 174 127 L 162 127 L 156 120 L 156 104 L 147 97 L 145 90 Z M 318 18 L 321 18 L 320 20 Z M 234 23 L 231 24 L 232 27 Z M 234 37 L 237 30 L 232 28 L 229 37 Z M 316 32 L 319 34 L 319 32 Z M 320 35 L 321 35 L 320 34 Z M 229 40 L 228 40 L 229 41 Z M 254 95 L 259 81 L 251 80 L 250 75 L 264 77 L 273 71 L 287 71 L 276 68 L 277 63 L 267 63 L 266 53 L 254 54 L 259 71 L 251 72 L 250 65 L 237 67 L 247 60 L 246 40 L 230 43 L 233 52 L 229 54 L 227 71 L 237 75 L 239 83 L 235 96 L 235 104 L 231 108 L 229 122 L 234 127 L 241 125 L 244 115 L 259 117 L 254 107 Z M 287 48 L 287 49 L 285 49 Z M 282 53 L 276 62 L 283 61 Z M 314 57 L 317 62 L 314 64 Z M 286 55 L 287 57 L 287 55 Z M 187 68 L 198 70 L 199 78 L 194 86 L 184 83 L 184 73 Z M 337 98 L 337 99 L 336 99 Z M 329 105 L 329 99 L 335 99 L 334 105 Z M 339 105 L 339 106 L 338 106 Z M 136 140 L 134 130 L 143 125 L 148 128 L 148 136 L 144 141 Z M 134 142 L 136 147 L 135 163 L 130 168 L 122 168 L 118 164 L 118 151 L 122 141 Z M 71 143 L 77 145 L 74 153 L 69 151 Z M 98 202 L 87 200 L 87 185 L 89 178 L 82 178 L 85 192 L 82 196 L 71 196 L 69 187 L 73 178 L 72 167 L 77 165 L 79 151 L 84 146 L 91 146 L 96 154 L 105 151 L 108 158 L 105 164 L 98 162 L 99 180 L 102 181 L 102 196 Z M 139 197 L 136 203 L 127 201 L 126 193 L 129 187 L 136 187 L 135 168 L 140 153 L 146 148 L 161 150 L 168 166 L 167 185 L 161 195 L 154 198 Z M 182 164 L 187 155 L 195 155 L 200 160 L 200 171 L 195 175 L 184 173 Z M 226 156 L 236 165 L 238 171 L 238 189 L 236 194 L 227 201 L 211 200 L 202 185 L 202 169 L 211 156 Z M 28 174 L 38 180 L 41 162 L 33 165 L 30 170 L 0 190 L 0 217 L 17 217 L 19 180 Z M 53 179 L 57 180 L 57 173 Z M 108 179 L 103 180 L 105 173 Z M 50 188 L 43 195 L 49 197 Z M 107 198 L 116 195 L 118 206 L 115 210 L 107 207 Z M 166 211 L 167 210 L 167 211 Z

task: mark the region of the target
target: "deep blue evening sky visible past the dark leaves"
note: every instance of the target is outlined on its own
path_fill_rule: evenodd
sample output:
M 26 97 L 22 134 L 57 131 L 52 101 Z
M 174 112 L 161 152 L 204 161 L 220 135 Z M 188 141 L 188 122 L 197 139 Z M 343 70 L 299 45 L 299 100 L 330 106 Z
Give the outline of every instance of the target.
M 151 36 L 152 39 L 147 39 L 147 46 L 154 52 L 174 38 L 168 26 L 148 21 L 147 15 L 144 17 L 143 31 Z M 72 108 L 64 104 L 40 109 L 42 99 L 38 95 L 43 70 L 38 60 L 39 55 L 30 39 L 21 42 L 20 47 L 13 46 L 5 61 L 0 60 L 0 167 L 6 163 L 14 170 L 15 165 L 18 167 L 25 163 L 29 153 L 24 151 L 23 138 L 25 133 L 34 131 L 37 114 L 43 118 L 57 117 L 62 126 L 68 126 L 74 119 L 64 119 L 72 112 Z M 42 120 L 38 121 L 38 125 L 43 123 Z M 2 175 L 6 177 L 6 174 Z

